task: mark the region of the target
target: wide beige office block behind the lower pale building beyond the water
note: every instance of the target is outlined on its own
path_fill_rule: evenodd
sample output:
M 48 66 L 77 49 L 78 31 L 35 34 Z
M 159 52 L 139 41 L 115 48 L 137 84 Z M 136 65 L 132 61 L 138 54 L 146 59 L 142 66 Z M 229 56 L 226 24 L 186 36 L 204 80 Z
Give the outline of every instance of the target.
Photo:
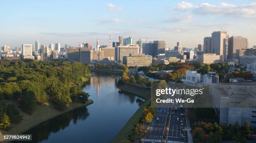
M 116 46 L 115 60 L 119 63 L 123 63 L 123 57 L 129 56 L 130 54 L 138 54 L 139 48 L 138 45 Z

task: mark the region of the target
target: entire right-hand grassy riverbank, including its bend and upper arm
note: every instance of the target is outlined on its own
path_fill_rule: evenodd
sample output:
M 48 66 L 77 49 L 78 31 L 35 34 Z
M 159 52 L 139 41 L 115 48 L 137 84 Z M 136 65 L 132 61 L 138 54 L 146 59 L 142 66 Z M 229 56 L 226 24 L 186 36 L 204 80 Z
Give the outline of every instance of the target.
M 129 92 L 132 94 L 136 94 L 144 99 L 146 101 L 138 108 L 138 110 L 133 114 L 133 116 L 128 120 L 128 122 L 123 126 L 123 128 L 119 131 L 117 136 L 112 140 L 111 143 L 120 143 L 123 140 L 128 140 L 128 135 L 131 134 L 132 129 L 134 128 L 134 125 L 138 123 L 143 116 L 144 108 L 149 106 L 151 103 L 151 90 L 150 89 L 143 89 L 136 86 L 123 84 L 118 85 L 118 89 L 121 89 L 125 92 Z

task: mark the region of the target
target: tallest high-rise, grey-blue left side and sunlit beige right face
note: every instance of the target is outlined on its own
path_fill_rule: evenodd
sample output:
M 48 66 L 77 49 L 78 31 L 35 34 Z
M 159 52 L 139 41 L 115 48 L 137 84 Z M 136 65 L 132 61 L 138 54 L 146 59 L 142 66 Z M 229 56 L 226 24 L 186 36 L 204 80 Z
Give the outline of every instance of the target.
M 225 62 L 227 56 L 227 32 L 226 31 L 215 31 L 212 32 L 212 50 L 211 53 L 220 55 Z

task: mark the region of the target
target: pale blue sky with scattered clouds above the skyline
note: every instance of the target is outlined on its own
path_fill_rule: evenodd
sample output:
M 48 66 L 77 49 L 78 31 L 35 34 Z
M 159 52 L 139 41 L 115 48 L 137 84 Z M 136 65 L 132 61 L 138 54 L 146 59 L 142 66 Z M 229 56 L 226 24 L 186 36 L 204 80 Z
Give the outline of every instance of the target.
M 248 38 L 256 45 L 253 0 L 1 0 L 0 45 L 61 43 L 77 46 L 118 36 L 197 47 L 211 32 Z

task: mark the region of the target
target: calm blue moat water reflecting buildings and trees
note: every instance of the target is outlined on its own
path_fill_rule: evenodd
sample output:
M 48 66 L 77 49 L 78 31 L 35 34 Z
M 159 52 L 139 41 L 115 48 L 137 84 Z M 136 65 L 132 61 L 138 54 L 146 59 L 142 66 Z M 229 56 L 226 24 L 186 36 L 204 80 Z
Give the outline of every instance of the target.
M 118 78 L 92 73 L 83 90 L 90 93 L 93 104 L 54 118 L 27 134 L 32 134 L 35 143 L 109 143 L 144 101 L 133 94 L 118 93 Z

